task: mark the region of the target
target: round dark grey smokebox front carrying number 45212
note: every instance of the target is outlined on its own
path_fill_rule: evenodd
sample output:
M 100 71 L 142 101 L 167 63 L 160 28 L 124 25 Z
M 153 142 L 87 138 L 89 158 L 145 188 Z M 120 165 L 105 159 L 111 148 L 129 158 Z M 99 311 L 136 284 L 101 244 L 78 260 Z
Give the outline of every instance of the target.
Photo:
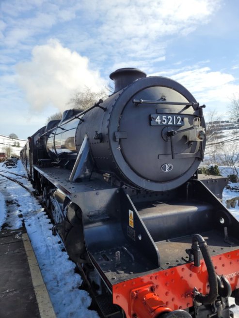
M 173 89 L 172 89 L 173 88 Z M 200 109 L 192 107 L 141 105 L 135 106 L 132 100 L 148 99 L 159 100 L 166 96 L 167 101 L 196 102 L 189 91 L 180 84 L 163 77 L 146 77 L 129 85 L 117 98 L 112 109 L 109 123 L 109 143 L 111 145 L 114 162 L 120 171 L 131 183 L 150 191 L 167 191 L 179 186 L 195 172 L 200 160 L 196 158 L 184 158 L 165 162 L 158 158 L 159 154 L 170 154 L 170 140 L 163 140 L 162 126 L 150 126 L 149 115 L 159 114 L 184 114 L 187 117 L 187 127 L 191 126 L 193 117 L 200 117 Z M 204 122 L 202 121 L 202 125 Z M 166 128 L 166 126 L 165 126 Z M 174 129 L 178 130 L 178 127 Z M 191 126 L 192 129 L 192 126 Z M 119 142 L 113 140 L 116 131 L 126 132 L 127 138 Z M 175 138 L 175 153 L 197 152 L 199 143 L 187 142 L 188 132 L 178 134 Z M 130 146 L 129 146 L 130 144 Z M 201 143 L 202 148 L 205 142 Z M 172 153 L 171 153 L 172 154 Z M 202 154 L 201 154 L 202 156 Z M 163 162 L 162 162 L 163 161 Z M 126 165 L 127 163 L 127 165 Z M 150 163 L 150 165 L 145 164 Z M 160 171 L 161 165 L 171 163 L 173 169 L 167 175 Z M 184 167 L 188 167 L 185 171 Z

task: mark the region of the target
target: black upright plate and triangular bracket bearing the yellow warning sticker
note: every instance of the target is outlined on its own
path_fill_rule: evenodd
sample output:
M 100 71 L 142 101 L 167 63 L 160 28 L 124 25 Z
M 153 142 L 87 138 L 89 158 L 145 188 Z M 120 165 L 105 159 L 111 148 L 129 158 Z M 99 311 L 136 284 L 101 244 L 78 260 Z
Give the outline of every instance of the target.
M 82 195 L 74 197 L 73 202 L 80 206 L 83 213 L 85 243 L 90 254 L 94 255 L 99 249 L 114 248 L 115 245 L 121 247 L 130 245 L 137 250 L 138 255 L 141 257 L 146 255 L 148 261 L 159 267 L 157 247 L 130 198 L 122 189 L 88 192 L 87 200 L 84 200 Z M 130 212 L 133 213 L 131 225 Z M 139 258 L 138 255 L 135 259 Z

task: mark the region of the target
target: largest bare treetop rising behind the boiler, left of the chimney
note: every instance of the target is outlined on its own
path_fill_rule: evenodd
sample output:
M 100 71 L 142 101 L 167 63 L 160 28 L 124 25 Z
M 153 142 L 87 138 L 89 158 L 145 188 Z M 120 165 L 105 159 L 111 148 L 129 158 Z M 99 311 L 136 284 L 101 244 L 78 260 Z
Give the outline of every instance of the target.
M 108 97 L 107 90 L 101 90 L 99 92 L 91 91 L 91 89 L 85 86 L 83 91 L 76 91 L 67 105 L 73 108 L 87 109 L 93 106 L 100 98 L 105 99 Z

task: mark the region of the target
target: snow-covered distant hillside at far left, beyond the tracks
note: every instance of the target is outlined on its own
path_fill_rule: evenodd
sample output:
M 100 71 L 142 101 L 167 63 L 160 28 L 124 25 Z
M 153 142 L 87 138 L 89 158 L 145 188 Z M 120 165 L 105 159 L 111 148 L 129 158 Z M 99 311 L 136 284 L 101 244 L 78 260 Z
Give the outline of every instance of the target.
M 0 152 L 5 152 L 7 156 L 19 156 L 26 142 L 27 140 L 0 135 Z

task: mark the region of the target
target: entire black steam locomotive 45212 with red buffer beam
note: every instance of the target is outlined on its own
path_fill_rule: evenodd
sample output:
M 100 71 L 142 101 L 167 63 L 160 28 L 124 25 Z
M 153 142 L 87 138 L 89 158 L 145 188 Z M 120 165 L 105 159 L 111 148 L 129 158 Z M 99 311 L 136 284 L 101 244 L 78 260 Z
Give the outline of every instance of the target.
M 196 172 L 204 105 L 135 68 L 110 78 L 109 98 L 65 111 L 21 151 L 54 233 L 103 317 L 233 317 L 239 222 Z

